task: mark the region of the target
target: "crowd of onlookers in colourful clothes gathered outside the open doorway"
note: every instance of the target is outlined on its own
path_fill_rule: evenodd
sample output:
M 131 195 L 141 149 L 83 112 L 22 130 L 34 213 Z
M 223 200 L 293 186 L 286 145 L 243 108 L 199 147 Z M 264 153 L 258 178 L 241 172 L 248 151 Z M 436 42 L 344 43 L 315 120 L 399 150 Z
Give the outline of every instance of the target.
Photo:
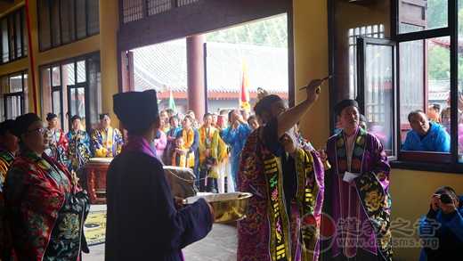
M 159 112 L 158 134 L 151 143 L 167 166 L 190 167 L 199 192 L 235 192 L 240 154 L 248 135 L 258 128 L 246 110 L 207 112 L 202 123 L 192 110 Z

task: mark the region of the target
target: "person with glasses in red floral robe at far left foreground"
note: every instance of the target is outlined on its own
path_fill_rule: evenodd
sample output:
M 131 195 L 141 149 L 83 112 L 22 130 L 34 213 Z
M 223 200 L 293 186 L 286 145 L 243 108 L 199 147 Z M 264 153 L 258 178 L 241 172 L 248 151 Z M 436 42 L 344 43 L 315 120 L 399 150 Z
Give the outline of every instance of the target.
M 81 260 L 90 205 L 77 177 L 45 154 L 46 128 L 34 113 L 16 118 L 20 154 L 4 187 L 14 260 Z

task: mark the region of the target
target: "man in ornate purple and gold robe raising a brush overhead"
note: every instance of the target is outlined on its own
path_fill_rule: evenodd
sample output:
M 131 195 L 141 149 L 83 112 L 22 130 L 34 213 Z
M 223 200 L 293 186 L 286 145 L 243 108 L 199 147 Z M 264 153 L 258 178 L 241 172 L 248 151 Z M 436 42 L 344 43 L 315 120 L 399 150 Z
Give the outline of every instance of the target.
M 298 145 L 294 126 L 318 99 L 322 82 L 313 80 L 305 102 L 289 110 L 277 95 L 256 104 L 264 125 L 248 136 L 238 175 L 239 191 L 254 195 L 238 224 L 239 261 L 318 258 L 323 166 L 315 151 Z

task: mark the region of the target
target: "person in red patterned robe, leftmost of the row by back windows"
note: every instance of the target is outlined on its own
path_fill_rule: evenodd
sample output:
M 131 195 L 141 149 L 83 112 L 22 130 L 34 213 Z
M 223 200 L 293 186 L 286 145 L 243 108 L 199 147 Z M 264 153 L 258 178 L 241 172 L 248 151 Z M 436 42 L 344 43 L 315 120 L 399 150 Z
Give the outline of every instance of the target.
M 68 140 L 64 132 L 58 127 L 58 116 L 54 113 L 46 115 L 48 122 L 48 134 L 50 135 L 49 147 L 46 155 L 57 160 L 61 164 L 68 165 Z

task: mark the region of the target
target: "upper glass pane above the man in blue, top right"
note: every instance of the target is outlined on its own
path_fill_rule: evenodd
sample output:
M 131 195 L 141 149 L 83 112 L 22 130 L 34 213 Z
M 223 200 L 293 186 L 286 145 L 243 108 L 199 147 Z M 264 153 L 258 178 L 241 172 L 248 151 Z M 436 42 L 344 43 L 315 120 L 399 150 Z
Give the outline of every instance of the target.
M 399 1 L 399 33 L 446 28 L 448 0 Z

